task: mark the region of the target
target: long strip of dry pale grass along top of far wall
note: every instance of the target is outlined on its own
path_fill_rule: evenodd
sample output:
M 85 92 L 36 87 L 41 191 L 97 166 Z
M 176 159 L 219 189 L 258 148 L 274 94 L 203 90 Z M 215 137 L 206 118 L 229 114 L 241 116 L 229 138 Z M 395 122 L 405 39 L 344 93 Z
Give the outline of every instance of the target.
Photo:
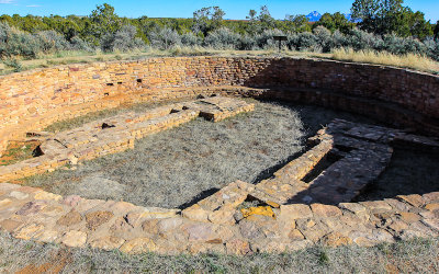
M 21 70 L 30 70 L 35 68 L 47 68 L 57 65 L 68 64 L 89 64 L 95 61 L 114 61 L 114 60 L 139 60 L 153 57 L 169 56 L 245 56 L 245 57 L 297 57 L 297 58 L 324 58 L 342 61 L 367 62 L 385 65 L 401 68 L 410 68 L 430 73 L 439 73 L 439 62 L 420 55 L 394 55 L 385 52 L 373 50 L 353 50 L 351 48 L 335 49 L 329 54 L 314 52 L 295 52 L 283 49 L 278 53 L 275 49 L 260 50 L 218 50 L 214 48 L 201 46 L 175 46 L 167 50 L 148 48 L 147 50 L 134 50 L 128 53 L 94 53 L 88 52 L 60 52 L 53 55 L 40 55 L 36 59 L 21 60 Z M 0 62 L 0 75 L 8 75 L 15 71 L 16 68 L 8 67 Z

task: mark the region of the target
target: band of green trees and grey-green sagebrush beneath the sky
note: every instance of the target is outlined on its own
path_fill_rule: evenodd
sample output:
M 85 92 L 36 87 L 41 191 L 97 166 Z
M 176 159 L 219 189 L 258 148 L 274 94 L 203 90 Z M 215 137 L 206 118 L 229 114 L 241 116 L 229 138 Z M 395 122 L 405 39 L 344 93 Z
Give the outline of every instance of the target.
M 119 16 L 112 5 L 98 5 L 87 16 L 0 16 L 0 57 L 57 50 L 133 50 L 177 45 L 217 49 L 258 49 L 274 46 L 273 35 L 285 35 L 294 50 L 330 52 L 337 47 L 416 53 L 439 56 L 439 21 L 404 7 L 403 0 L 356 0 L 352 20 L 340 12 L 325 13 L 317 22 L 305 15 L 271 16 L 267 5 L 250 10 L 246 20 L 224 20 L 219 7 L 202 8 L 191 19 Z

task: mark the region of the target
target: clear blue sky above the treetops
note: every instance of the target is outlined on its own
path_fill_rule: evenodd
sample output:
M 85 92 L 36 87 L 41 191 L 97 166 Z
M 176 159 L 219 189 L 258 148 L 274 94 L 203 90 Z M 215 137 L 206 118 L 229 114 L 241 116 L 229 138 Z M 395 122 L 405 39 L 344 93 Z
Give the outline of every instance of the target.
M 191 18 L 200 8 L 219 5 L 226 19 L 245 19 L 250 9 L 259 10 L 267 4 L 272 16 L 284 19 L 285 14 L 308 14 L 315 10 L 349 12 L 353 0 L 0 0 L 0 14 L 88 15 L 103 2 L 114 5 L 119 15 L 128 18 Z M 439 0 L 406 0 L 405 5 L 423 11 L 427 20 L 439 20 Z

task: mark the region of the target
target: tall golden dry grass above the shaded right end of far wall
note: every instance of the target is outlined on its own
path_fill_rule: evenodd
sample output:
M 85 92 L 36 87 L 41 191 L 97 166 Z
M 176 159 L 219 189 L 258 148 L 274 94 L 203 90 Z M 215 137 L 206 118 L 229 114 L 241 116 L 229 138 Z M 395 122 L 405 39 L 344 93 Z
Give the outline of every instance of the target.
M 401 68 L 410 68 L 427 72 L 439 72 L 439 62 L 429 59 L 428 57 L 415 54 L 403 56 L 389 54 L 385 52 L 359 50 L 354 52 L 351 48 L 336 49 L 333 54 L 333 59 L 353 62 L 368 62 L 376 65 L 386 65 Z

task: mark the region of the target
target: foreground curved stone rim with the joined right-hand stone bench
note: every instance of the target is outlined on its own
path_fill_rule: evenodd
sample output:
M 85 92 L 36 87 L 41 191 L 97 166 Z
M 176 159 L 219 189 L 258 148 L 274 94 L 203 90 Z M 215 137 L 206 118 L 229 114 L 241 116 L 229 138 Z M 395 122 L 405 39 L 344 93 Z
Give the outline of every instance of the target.
M 305 159 L 288 163 L 273 179 L 259 184 L 233 182 L 183 210 L 76 195 L 61 197 L 38 189 L 2 183 L 0 227 L 19 239 L 164 254 L 244 255 L 292 251 L 315 243 L 370 247 L 397 239 L 439 236 L 439 193 L 346 203 L 379 175 L 389 162 L 392 144 L 404 141 L 437 149 L 438 142 L 401 130 L 340 119 L 309 141 L 315 146 L 303 155 Z M 350 150 L 337 149 L 340 146 Z M 359 156 L 358 151 L 362 153 Z M 326 171 L 338 171 L 342 175 L 330 174 L 322 184 L 320 178 L 326 176 L 323 172 L 306 185 L 302 182 L 300 189 L 294 189 L 330 153 L 339 158 Z M 350 161 L 363 155 L 372 160 Z M 354 176 L 358 174 L 352 174 L 351 169 L 364 170 L 363 176 Z M 340 192 L 352 181 L 353 185 L 348 186 L 352 192 Z M 318 187 L 324 189 L 317 191 Z M 299 195 L 301 192 L 306 195 Z M 295 204 L 294 197 L 306 198 Z M 326 201 L 320 202 L 322 197 Z M 257 205 L 246 206 L 246 202 L 255 201 Z

